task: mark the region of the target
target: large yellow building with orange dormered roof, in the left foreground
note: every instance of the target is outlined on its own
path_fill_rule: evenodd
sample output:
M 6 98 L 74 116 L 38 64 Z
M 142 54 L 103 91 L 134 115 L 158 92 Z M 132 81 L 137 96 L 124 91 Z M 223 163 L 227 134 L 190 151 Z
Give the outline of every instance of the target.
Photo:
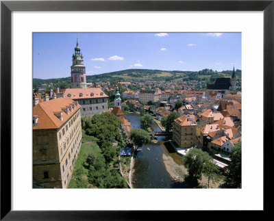
M 66 188 L 82 144 L 81 106 L 60 97 L 33 109 L 34 187 Z

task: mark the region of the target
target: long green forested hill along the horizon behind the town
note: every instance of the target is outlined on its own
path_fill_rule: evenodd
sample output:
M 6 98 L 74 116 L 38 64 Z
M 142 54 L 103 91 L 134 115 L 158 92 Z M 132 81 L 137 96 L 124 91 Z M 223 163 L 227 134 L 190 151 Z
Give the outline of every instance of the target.
M 236 78 L 241 78 L 241 70 L 236 70 Z M 96 83 L 99 81 L 208 81 L 214 82 L 218 77 L 232 77 L 232 70 L 203 69 L 199 71 L 182 70 L 150 70 L 150 69 L 127 69 L 101 75 L 87 75 L 87 83 Z M 53 83 L 60 88 L 66 88 L 71 83 L 71 77 L 58 79 L 33 79 L 34 86 L 40 83 Z

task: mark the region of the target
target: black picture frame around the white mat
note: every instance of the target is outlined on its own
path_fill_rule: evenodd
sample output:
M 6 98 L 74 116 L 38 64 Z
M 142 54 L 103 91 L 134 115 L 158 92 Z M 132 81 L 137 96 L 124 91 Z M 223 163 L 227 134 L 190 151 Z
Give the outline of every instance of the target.
M 11 13 L 12 11 L 263 11 L 264 12 L 264 210 L 273 187 L 274 0 L 265 1 L 1 1 L 1 220 L 160 220 L 180 211 L 12 211 Z M 255 105 L 255 104 L 254 104 Z M 256 108 L 256 107 L 255 107 Z M 256 116 L 262 120 L 262 116 Z M 256 163 L 256 159 L 254 159 Z M 27 199 L 26 199 L 27 200 Z M 214 207 L 212 207 L 214 208 Z M 188 211 L 197 216 L 197 211 Z M 163 214 L 165 213 L 165 214 Z M 195 213 L 195 215 L 194 215 Z M 225 217 L 225 211 L 221 213 Z M 261 211 L 258 217 L 261 217 Z M 203 215 L 202 215 L 203 216 Z M 220 218 L 220 217 L 219 217 Z M 255 216 L 256 218 L 256 216 Z

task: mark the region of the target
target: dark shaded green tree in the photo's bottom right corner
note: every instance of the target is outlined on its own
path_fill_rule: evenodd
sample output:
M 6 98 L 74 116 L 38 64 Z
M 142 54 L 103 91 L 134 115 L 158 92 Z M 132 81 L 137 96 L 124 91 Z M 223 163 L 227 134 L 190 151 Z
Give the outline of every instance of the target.
M 232 160 L 228 166 L 227 176 L 225 177 L 225 184 L 229 187 L 242 187 L 242 143 L 238 142 L 232 153 L 229 155 Z

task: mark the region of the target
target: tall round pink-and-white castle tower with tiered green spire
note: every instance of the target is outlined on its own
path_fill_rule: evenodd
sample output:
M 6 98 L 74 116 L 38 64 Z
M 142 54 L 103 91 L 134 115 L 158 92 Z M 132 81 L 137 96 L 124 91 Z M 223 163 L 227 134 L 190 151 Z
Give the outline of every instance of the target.
M 71 88 L 86 88 L 86 66 L 84 66 L 83 55 L 77 44 L 73 54 L 73 65 L 71 66 Z

